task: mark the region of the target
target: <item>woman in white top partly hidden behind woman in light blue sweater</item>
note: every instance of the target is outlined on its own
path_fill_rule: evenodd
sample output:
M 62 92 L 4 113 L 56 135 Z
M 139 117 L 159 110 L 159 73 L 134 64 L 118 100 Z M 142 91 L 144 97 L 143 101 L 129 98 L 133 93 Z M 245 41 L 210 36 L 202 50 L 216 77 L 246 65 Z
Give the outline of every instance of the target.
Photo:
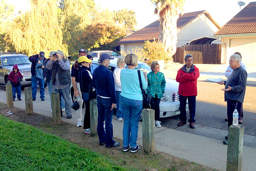
M 115 89 L 116 89 L 116 117 L 118 121 L 123 121 L 122 117 L 122 110 L 120 107 L 120 93 L 121 93 L 121 81 L 120 81 L 120 73 L 121 70 L 124 69 L 125 62 L 124 58 L 118 58 L 116 65 L 118 68 L 114 70 L 114 82 L 115 82 Z

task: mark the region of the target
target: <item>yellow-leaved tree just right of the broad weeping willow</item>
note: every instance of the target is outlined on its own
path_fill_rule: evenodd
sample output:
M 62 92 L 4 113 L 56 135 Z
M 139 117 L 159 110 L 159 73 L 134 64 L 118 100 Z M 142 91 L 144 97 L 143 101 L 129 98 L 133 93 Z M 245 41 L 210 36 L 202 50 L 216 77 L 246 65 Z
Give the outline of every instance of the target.
M 68 46 L 68 52 L 77 53 L 84 48 L 83 32 L 92 23 L 94 10 L 93 0 L 61 0 L 62 9 L 60 24 L 63 32 L 63 40 Z

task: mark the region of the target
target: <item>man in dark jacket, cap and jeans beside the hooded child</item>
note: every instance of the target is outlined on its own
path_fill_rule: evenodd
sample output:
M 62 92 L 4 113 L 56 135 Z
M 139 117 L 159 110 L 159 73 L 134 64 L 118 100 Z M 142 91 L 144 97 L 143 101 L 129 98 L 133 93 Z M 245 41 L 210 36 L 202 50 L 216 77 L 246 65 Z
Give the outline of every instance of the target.
M 37 83 L 40 87 L 40 98 L 44 101 L 44 52 L 40 52 L 37 55 L 30 56 L 28 58 L 31 64 L 31 85 L 32 85 L 32 98 L 36 100 Z

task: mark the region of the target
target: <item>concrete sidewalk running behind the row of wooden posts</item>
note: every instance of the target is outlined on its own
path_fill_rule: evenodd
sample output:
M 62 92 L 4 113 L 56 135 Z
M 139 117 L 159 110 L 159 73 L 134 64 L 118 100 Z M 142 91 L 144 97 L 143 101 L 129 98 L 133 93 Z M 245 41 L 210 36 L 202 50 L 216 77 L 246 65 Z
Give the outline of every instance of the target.
M 0 102 L 6 103 L 6 91 L 0 90 Z M 37 93 L 37 99 L 39 98 L 39 90 Z M 50 109 L 50 96 L 48 89 L 45 92 L 45 101 L 36 100 L 33 101 L 34 112 L 48 117 L 52 117 Z M 14 101 L 14 106 L 25 109 L 24 91 L 22 91 L 22 101 Z M 72 119 L 66 119 L 65 113 L 63 113 L 62 121 L 76 125 L 76 116 L 72 111 Z M 83 109 L 84 113 L 84 109 Z M 123 122 L 117 121 L 116 116 L 113 116 L 112 120 L 114 137 L 123 139 L 122 127 Z M 189 124 L 177 129 L 184 129 Z M 78 131 L 84 131 L 84 129 L 78 129 Z M 209 137 L 196 135 L 193 132 L 202 131 L 203 134 L 210 135 Z M 191 162 L 196 162 L 204 166 L 208 166 L 220 171 L 226 170 L 226 157 L 227 157 L 227 145 L 222 144 L 222 140 L 216 139 L 216 135 L 224 138 L 227 135 L 227 131 L 214 129 L 210 127 L 202 127 L 196 125 L 196 129 L 191 129 L 191 133 L 179 131 L 176 129 L 168 129 L 166 127 L 155 128 L 155 150 L 161 151 L 166 154 L 186 159 Z M 215 136 L 214 136 L 215 135 Z M 212 137 L 212 138 L 210 138 Z M 249 141 L 249 142 L 248 142 Z M 142 145 L 142 122 L 139 123 L 138 141 L 139 145 Z M 256 143 L 256 137 L 250 135 L 244 135 L 244 147 L 243 147 L 243 159 L 242 169 L 243 171 L 256 171 L 256 148 L 245 146 L 250 143 Z M 171 161 L 170 161 L 171 162 Z

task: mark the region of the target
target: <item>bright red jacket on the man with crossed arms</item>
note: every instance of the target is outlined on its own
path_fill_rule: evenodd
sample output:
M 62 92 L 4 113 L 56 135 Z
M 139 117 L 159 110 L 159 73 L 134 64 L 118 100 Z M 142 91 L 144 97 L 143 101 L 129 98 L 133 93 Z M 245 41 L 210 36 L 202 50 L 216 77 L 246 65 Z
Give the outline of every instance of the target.
M 186 71 L 186 65 L 178 70 L 176 81 L 179 82 L 178 94 L 183 96 L 197 95 L 196 82 L 199 77 L 199 70 L 192 65 L 189 72 Z

